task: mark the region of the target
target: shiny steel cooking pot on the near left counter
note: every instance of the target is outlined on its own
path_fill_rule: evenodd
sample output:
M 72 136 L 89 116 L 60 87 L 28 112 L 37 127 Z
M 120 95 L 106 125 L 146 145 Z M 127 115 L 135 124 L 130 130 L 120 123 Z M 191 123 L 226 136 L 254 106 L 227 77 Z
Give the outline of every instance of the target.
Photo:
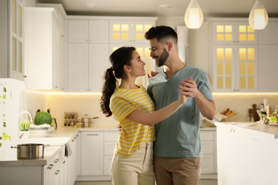
M 17 159 L 43 159 L 43 152 L 45 147 L 49 147 L 50 144 L 17 144 Z

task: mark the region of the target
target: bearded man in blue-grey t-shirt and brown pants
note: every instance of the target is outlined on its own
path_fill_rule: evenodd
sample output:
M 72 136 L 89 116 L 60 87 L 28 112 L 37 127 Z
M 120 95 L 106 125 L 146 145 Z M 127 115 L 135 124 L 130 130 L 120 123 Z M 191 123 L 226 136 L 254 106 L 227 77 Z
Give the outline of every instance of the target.
M 149 78 L 148 93 L 156 110 L 179 98 L 180 83 L 189 98 L 175 114 L 155 125 L 155 177 L 158 185 L 200 184 L 200 112 L 215 117 L 215 102 L 205 70 L 180 60 L 177 33 L 169 26 L 155 26 L 145 33 L 150 41 L 150 56 L 163 70 Z M 184 80 L 185 79 L 185 80 Z

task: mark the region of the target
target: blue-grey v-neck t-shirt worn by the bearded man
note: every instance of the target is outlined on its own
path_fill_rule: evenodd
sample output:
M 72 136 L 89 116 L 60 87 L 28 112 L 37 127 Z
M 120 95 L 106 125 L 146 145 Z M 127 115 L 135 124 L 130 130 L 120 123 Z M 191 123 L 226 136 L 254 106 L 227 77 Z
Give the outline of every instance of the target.
M 210 82 L 205 70 L 185 65 L 172 78 L 167 79 L 163 70 L 148 80 L 148 94 L 155 102 L 156 110 L 166 107 L 180 98 L 180 82 L 192 78 L 197 88 L 213 100 Z M 170 117 L 155 125 L 154 155 L 160 157 L 202 157 L 200 142 L 200 110 L 189 97 L 182 107 Z

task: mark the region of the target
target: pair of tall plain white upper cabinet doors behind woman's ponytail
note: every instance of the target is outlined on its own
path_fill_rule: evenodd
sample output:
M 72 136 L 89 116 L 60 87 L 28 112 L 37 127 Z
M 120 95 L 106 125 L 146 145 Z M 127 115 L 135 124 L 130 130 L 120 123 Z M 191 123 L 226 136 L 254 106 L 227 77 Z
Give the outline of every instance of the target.
M 68 91 L 101 92 L 108 52 L 108 43 L 68 43 Z

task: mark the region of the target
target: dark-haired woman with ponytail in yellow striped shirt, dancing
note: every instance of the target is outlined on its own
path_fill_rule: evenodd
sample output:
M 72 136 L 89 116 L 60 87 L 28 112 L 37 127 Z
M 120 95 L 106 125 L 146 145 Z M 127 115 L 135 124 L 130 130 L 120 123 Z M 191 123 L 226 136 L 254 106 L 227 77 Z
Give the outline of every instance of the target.
M 144 65 L 133 47 L 118 48 L 110 55 L 111 68 L 105 73 L 101 110 L 106 117 L 114 116 L 122 127 L 111 163 L 111 181 L 114 185 L 153 185 L 153 141 L 155 123 L 172 115 L 187 97 L 155 111 L 143 85 L 135 80 L 145 75 Z M 120 85 L 117 88 L 117 80 Z M 179 87 L 180 88 L 180 87 Z

